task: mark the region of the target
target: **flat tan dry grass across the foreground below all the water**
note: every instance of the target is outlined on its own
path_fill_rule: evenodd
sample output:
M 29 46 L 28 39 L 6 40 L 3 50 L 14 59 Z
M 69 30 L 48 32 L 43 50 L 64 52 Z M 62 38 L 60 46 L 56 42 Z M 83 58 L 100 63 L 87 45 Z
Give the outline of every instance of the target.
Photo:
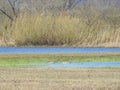
M 120 90 L 120 69 L 0 69 L 1 90 Z

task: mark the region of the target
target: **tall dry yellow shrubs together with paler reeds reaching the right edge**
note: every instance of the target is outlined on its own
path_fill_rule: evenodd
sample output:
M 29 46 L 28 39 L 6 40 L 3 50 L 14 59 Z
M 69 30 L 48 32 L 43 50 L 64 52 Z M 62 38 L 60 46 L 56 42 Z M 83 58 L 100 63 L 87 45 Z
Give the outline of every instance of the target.
M 89 22 L 87 18 L 70 15 L 24 14 L 8 29 L 7 36 L 18 46 L 120 47 L 120 28 L 114 28 L 98 17 Z

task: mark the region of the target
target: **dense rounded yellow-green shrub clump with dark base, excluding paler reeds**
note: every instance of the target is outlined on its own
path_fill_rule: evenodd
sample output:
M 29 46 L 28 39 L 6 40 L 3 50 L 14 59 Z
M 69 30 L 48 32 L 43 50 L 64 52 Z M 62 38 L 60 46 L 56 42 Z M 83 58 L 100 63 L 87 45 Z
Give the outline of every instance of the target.
M 70 16 L 20 16 L 12 36 L 18 45 L 62 45 L 78 40 L 79 19 Z

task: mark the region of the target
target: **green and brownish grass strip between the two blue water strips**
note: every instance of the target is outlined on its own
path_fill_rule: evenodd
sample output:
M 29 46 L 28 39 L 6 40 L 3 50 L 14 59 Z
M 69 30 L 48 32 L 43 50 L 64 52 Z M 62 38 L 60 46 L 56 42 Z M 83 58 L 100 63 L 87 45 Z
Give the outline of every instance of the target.
M 120 54 L 0 55 L 0 67 L 19 67 L 47 62 L 120 62 Z

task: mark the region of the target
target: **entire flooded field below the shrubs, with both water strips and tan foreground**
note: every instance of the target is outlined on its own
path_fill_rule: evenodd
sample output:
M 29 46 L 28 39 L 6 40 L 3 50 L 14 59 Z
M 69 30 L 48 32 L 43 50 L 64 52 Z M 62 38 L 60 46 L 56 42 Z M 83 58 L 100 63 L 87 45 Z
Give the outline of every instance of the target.
M 119 49 L 69 50 L 0 48 L 0 90 L 120 90 Z

